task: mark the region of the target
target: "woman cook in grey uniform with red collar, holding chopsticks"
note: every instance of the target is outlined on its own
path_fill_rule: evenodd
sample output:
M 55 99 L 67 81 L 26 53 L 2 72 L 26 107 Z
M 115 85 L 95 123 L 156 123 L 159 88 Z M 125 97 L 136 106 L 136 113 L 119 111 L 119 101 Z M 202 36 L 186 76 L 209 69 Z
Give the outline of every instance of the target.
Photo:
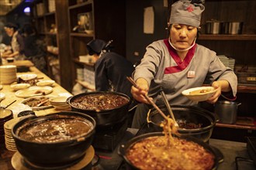
M 169 37 L 152 42 L 140 65 L 133 73 L 137 88 L 132 87 L 134 99 L 141 102 L 133 117 L 133 128 L 140 128 L 147 120 L 151 107 L 144 97 L 164 104 L 161 88 L 168 101 L 173 104 L 195 105 L 197 102 L 182 96 L 182 91 L 201 87 L 209 83 L 217 91 L 207 100 L 214 104 L 221 93 L 230 93 L 235 98 L 237 93 L 237 76 L 234 71 L 221 63 L 216 53 L 195 43 L 199 32 L 201 14 L 205 7 L 203 1 L 180 0 L 171 5 L 168 23 Z

